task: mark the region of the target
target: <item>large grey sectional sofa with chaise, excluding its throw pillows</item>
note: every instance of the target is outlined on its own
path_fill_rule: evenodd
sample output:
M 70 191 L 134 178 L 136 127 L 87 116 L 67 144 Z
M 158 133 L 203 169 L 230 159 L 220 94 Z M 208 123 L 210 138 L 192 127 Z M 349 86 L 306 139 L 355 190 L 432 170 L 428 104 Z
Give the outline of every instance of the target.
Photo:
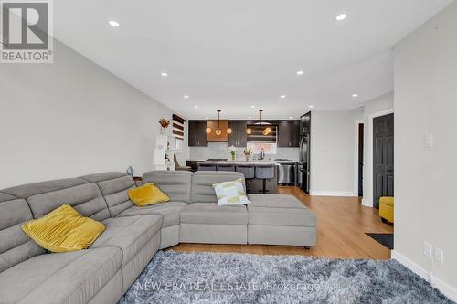
M 136 207 L 124 173 L 31 183 L 0 191 L 0 303 L 115 303 L 160 248 L 180 242 L 314 246 L 316 219 L 289 195 L 253 194 L 218 206 L 212 183 L 240 173 L 150 172 L 170 202 Z M 101 221 L 88 250 L 48 253 L 21 230 L 61 204 Z

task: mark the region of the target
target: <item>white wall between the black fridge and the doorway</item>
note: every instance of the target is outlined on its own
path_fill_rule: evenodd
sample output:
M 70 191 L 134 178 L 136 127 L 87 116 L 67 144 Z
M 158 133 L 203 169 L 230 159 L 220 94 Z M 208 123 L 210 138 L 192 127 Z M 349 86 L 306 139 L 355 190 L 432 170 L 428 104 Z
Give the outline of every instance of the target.
M 311 113 L 311 194 L 357 196 L 356 121 L 362 110 Z

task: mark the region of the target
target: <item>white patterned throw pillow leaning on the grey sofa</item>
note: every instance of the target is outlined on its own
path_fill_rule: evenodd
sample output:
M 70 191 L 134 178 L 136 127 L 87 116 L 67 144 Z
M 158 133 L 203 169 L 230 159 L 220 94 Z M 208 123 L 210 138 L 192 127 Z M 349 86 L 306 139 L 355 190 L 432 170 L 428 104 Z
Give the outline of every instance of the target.
M 213 183 L 214 191 L 218 196 L 218 205 L 223 204 L 250 204 L 244 191 L 243 179 L 232 182 Z

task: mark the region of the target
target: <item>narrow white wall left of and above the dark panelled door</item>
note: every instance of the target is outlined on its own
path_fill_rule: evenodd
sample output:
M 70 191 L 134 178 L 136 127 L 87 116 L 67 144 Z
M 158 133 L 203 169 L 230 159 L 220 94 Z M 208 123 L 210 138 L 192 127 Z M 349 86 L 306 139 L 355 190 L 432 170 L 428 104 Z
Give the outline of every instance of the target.
M 394 110 L 394 93 L 388 93 L 364 105 L 364 200 L 373 206 L 373 118 L 387 115 Z

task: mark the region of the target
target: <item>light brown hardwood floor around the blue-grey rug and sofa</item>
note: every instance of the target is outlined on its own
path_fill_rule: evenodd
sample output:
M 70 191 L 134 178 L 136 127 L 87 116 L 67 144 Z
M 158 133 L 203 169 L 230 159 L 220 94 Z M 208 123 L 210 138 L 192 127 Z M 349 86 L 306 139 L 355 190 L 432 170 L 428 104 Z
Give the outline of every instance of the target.
M 360 204 L 355 197 L 324 197 L 304 194 L 297 187 L 280 187 L 292 194 L 317 216 L 317 245 L 306 250 L 299 246 L 179 244 L 175 251 L 238 252 L 258 255 L 303 255 L 340 258 L 390 258 L 390 250 L 365 235 L 393 233 L 393 225 L 383 224 L 377 209 Z

